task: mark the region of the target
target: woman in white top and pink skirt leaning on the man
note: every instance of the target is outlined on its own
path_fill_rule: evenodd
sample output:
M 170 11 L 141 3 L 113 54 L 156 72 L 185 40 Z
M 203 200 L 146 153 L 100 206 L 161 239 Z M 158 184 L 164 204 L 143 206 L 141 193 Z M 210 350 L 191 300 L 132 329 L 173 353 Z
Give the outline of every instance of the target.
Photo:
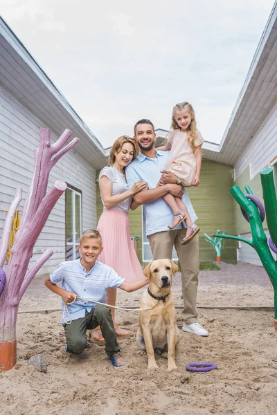
M 139 154 L 139 146 L 134 138 L 119 137 L 111 147 L 109 164 L 99 174 L 99 186 L 104 210 L 98 221 L 97 230 L 102 237 L 104 249 L 98 257 L 103 264 L 116 270 L 120 277 L 128 282 L 143 277 L 143 270 L 130 237 L 128 211 L 135 210 L 139 204 L 132 200 L 132 196 L 141 190 L 146 190 L 145 181 L 134 183 L 128 190 L 125 167 Z M 116 289 L 109 288 L 107 304 L 116 305 Z M 111 308 L 111 317 L 114 321 L 116 335 L 129 335 L 118 327 L 115 320 L 114 308 Z M 91 331 L 93 340 L 98 344 L 105 344 L 100 327 Z

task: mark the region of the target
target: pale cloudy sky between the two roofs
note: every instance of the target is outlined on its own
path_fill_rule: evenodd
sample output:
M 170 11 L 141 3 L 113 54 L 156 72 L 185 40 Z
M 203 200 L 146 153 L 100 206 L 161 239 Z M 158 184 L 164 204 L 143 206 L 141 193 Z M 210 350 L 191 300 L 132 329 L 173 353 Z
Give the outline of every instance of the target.
M 103 147 L 193 104 L 220 142 L 274 0 L 1 0 L 1 16 Z M 66 128 L 66 126 L 64 126 Z M 62 131 L 61 131 L 62 132 Z

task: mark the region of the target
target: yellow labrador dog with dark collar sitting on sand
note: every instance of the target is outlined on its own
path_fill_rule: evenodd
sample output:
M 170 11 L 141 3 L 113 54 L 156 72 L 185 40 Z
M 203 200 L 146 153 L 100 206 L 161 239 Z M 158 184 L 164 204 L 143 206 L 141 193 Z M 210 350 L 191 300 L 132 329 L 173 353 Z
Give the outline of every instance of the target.
M 177 327 L 175 303 L 170 293 L 172 275 L 178 267 L 170 259 L 157 259 L 144 269 L 149 279 L 148 290 L 143 293 L 141 308 L 154 307 L 139 312 L 139 330 L 136 342 L 140 349 L 146 350 L 148 369 L 157 366 L 154 353 L 168 357 L 168 370 L 177 369 L 175 365 L 175 347 L 181 335 Z

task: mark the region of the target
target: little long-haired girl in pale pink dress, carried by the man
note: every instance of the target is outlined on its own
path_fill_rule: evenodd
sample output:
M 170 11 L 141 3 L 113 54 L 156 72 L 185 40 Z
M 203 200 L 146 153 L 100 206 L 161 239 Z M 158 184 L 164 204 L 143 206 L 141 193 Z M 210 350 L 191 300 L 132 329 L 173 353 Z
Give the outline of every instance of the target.
M 188 102 L 176 104 L 172 111 L 171 127 L 173 131 L 168 137 L 168 142 L 158 150 L 170 150 L 170 156 L 166 170 L 177 176 L 183 186 L 198 186 L 201 169 L 201 147 L 204 139 L 196 129 L 195 112 Z M 160 185 L 160 184 L 159 184 Z M 168 225 L 169 230 L 174 230 L 183 221 L 186 222 L 186 238 L 182 245 L 189 243 L 200 228 L 193 223 L 188 214 L 188 209 L 181 199 L 167 194 L 163 199 L 168 203 L 173 212 L 173 221 Z

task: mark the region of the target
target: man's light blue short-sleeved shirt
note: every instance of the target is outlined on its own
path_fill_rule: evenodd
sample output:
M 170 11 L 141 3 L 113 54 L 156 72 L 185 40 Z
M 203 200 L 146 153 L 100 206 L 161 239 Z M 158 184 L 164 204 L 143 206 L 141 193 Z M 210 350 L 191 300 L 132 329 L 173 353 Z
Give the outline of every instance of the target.
M 139 180 L 146 181 L 148 183 L 148 189 L 154 189 L 157 183 L 159 183 L 161 170 L 166 165 L 169 154 L 170 151 L 157 150 L 157 158 L 148 158 L 140 153 L 126 168 L 129 189 Z M 197 216 L 185 188 L 182 200 L 188 208 L 191 220 L 195 222 Z M 172 223 L 172 210 L 163 199 L 157 199 L 157 201 L 152 203 L 145 203 L 143 205 L 143 213 L 145 215 L 147 235 L 168 230 L 168 225 Z M 177 229 L 181 229 L 181 225 Z

